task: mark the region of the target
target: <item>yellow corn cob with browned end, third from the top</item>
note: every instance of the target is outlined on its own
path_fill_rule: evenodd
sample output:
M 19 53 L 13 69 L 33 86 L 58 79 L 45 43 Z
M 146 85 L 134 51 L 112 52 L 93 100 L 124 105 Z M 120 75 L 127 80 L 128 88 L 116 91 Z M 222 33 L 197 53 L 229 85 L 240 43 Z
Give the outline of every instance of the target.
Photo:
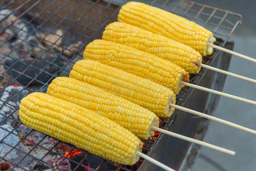
M 147 78 L 176 94 L 184 87 L 181 82 L 189 81 L 188 72 L 176 64 L 120 43 L 94 40 L 86 46 L 83 57 Z

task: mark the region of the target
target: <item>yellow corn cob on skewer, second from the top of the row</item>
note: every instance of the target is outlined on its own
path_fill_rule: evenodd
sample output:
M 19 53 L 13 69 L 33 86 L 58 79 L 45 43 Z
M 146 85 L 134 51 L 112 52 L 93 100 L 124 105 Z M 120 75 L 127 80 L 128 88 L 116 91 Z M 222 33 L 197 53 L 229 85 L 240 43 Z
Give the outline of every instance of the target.
M 109 24 L 105 27 L 102 39 L 159 56 L 184 68 L 190 74 L 197 74 L 201 68 L 202 56 L 193 48 L 127 23 Z

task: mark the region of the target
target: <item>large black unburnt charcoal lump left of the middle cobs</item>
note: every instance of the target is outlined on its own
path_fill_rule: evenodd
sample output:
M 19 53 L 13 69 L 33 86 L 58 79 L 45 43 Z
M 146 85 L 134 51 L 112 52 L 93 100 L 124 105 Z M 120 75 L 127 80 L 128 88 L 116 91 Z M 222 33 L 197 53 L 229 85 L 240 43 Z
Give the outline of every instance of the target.
M 19 83 L 21 83 L 23 86 L 27 86 L 27 84 L 30 84 L 30 85 L 41 84 L 42 85 L 42 83 L 47 83 L 49 80 L 54 79 L 55 77 L 52 75 L 55 74 L 56 76 L 58 76 L 57 72 L 60 70 L 60 67 L 63 66 L 62 60 L 60 58 L 54 59 L 54 62 L 53 62 L 54 64 L 48 65 L 48 63 L 52 59 L 53 58 L 44 58 L 44 60 L 42 60 L 39 58 L 38 59 L 31 58 L 31 59 L 21 59 L 18 62 L 15 60 L 6 60 L 5 66 L 6 66 L 6 69 L 7 69 L 7 67 L 15 68 L 15 70 L 13 70 L 13 69 L 8 70 L 8 74 L 11 75 L 14 79 L 17 79 L 17 81 Z M 36 61 L 34 61 L 34 60 L 36 60 Z M 31 64 L 31 66 L 30 66 L 30 64 Z M 29 68 L 27 68 L 27 67 L 29 67 Z M 44 68 L 44 67 L 46 67 L 46 68 Z M 42 71 L 42 72 L 40 72 L 40 71 Z M 46 72 L 44 72 L 44 71 L 46 71 Z M 39 74 L 39 72 L 40 72 L 40 74 Z M 36 78 L 36 80 L 35 79 L 33 80 L 33 78 Z M 40 82 L 42 82 L 42 83 L 40 83 Z

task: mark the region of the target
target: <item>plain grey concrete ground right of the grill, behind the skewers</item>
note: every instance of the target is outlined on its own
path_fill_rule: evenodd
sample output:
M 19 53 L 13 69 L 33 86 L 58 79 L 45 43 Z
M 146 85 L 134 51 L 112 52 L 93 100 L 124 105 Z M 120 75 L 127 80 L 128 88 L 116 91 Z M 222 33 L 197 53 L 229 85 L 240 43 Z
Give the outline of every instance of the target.
M 243 23 L 239 25 L 230 40 L 234 40 L 234 51 L 241 52 L 256 59 L 256 1 L 198 1 L 243 15 Z M 256 79 L 256 63 L 232 57 L 230 72 Z M 256 100 L 256 84 L 227 76 L 224 92 Z M 221 119 L 256 130 L 256 106 L 241 101 L 221 97 L 215 111 Z M 235 156 L 222 154 L 209 148 L 201 148 L 200 155 L 193 166 L 196 170 L 256 170 L 256 136 L 227 127 L 215 122 L 210 123 L 205 140 L 231 150 Z

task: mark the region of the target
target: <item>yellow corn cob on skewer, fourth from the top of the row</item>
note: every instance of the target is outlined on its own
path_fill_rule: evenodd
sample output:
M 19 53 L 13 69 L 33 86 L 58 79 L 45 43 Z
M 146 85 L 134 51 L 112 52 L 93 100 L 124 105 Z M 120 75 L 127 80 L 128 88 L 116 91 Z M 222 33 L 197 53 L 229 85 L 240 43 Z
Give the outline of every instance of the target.
M 169 117 L 174 111 L 170 104 L 175 104 L 176 95 L 169 88 L 95 60 L 76 62 L 70 71 L 70 78 L 115 93 L 149 109 L 159 117 Z

